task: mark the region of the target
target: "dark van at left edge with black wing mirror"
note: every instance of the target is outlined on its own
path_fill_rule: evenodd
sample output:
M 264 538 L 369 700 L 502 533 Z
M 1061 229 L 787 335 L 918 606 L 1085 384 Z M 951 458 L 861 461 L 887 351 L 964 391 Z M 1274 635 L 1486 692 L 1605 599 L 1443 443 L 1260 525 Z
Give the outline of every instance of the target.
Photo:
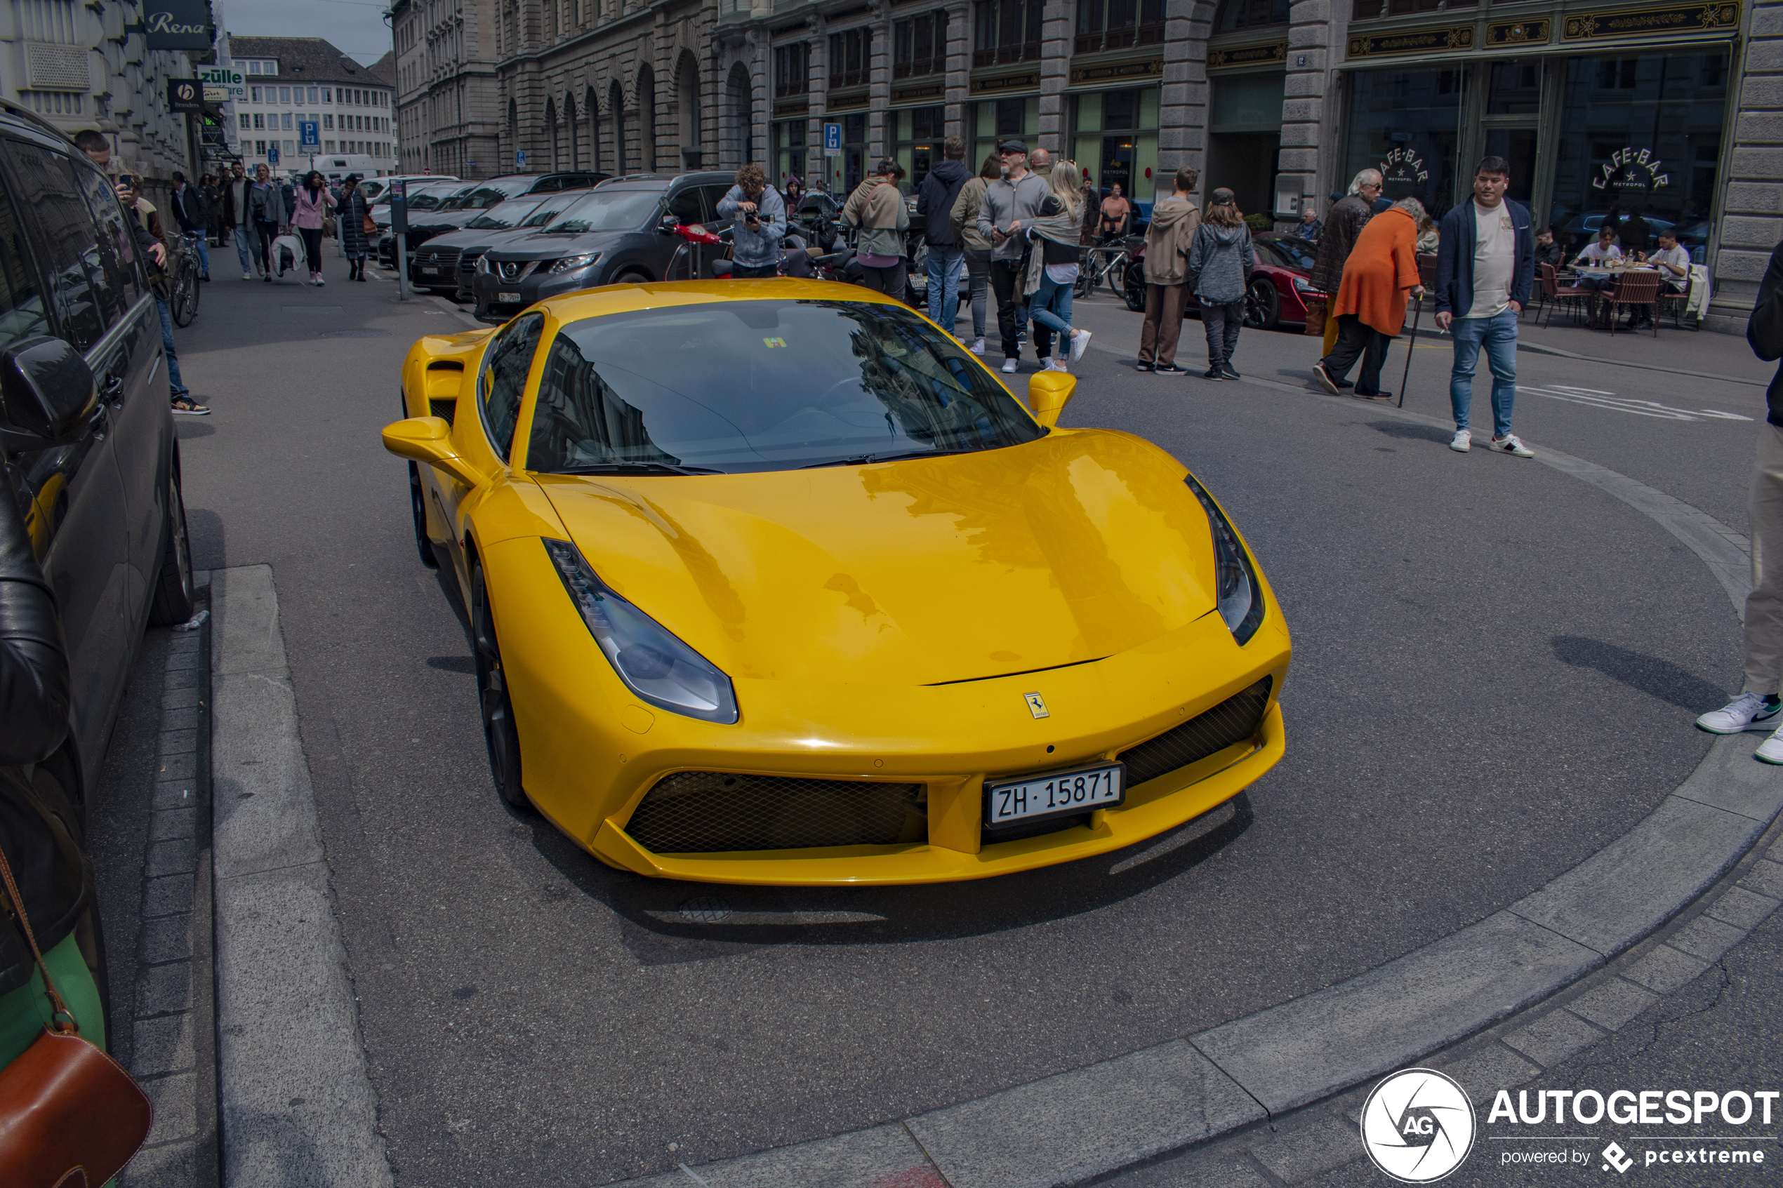
M 0 110 L 0 484 L 55 591 L 73 680 L 68 739 L 29 782 L 78 816 L 143 627 L 193 613 L 193 563 L 134 230 L 111 180 L 12 107 Z

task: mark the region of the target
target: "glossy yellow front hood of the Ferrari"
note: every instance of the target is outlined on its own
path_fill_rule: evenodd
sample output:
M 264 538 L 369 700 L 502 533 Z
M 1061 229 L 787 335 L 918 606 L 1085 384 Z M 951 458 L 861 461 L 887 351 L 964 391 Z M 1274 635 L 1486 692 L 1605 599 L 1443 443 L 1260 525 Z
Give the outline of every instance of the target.
M 943 684 L 1102 659 L 1214 607 L 1182 463 L 1100 429 L 735 476 L 537 476 L 596 572 L 738 679 Z

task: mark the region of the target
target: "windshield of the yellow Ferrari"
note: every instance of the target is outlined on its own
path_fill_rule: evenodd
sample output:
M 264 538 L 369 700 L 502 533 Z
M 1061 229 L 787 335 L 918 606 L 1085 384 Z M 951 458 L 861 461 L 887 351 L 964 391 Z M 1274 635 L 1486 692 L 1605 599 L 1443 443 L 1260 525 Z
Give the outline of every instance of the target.
M 558 333 L 531 470 L 792 470 L 1041 436 L 966 351 L 902 305 L 726 301 Z

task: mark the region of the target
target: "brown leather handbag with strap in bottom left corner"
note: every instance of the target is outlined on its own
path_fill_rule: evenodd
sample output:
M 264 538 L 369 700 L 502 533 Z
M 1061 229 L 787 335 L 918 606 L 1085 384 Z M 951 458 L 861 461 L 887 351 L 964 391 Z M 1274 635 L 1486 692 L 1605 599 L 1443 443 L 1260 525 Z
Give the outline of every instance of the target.
M 0 1184 L 100 1188 L 136 1156 L 155 1111 L 116 1060 L 80 1038 L 78 1021 L 50 981 L 5 853 L 0 878 L 37 958 L 52 1012 L 43 1035 L 0 1069 Z

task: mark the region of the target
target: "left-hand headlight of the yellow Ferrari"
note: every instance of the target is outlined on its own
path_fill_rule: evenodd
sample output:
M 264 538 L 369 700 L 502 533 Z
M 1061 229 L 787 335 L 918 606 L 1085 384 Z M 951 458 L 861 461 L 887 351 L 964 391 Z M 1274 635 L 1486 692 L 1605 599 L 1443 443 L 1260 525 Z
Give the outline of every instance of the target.
M 546 540 L 546 552 L 581 622 L 626 688 L 660 709 L 704 721 L 736 721 L 731 679 L 667 627 L 631 606 L 596 577 L 576 545 Z

